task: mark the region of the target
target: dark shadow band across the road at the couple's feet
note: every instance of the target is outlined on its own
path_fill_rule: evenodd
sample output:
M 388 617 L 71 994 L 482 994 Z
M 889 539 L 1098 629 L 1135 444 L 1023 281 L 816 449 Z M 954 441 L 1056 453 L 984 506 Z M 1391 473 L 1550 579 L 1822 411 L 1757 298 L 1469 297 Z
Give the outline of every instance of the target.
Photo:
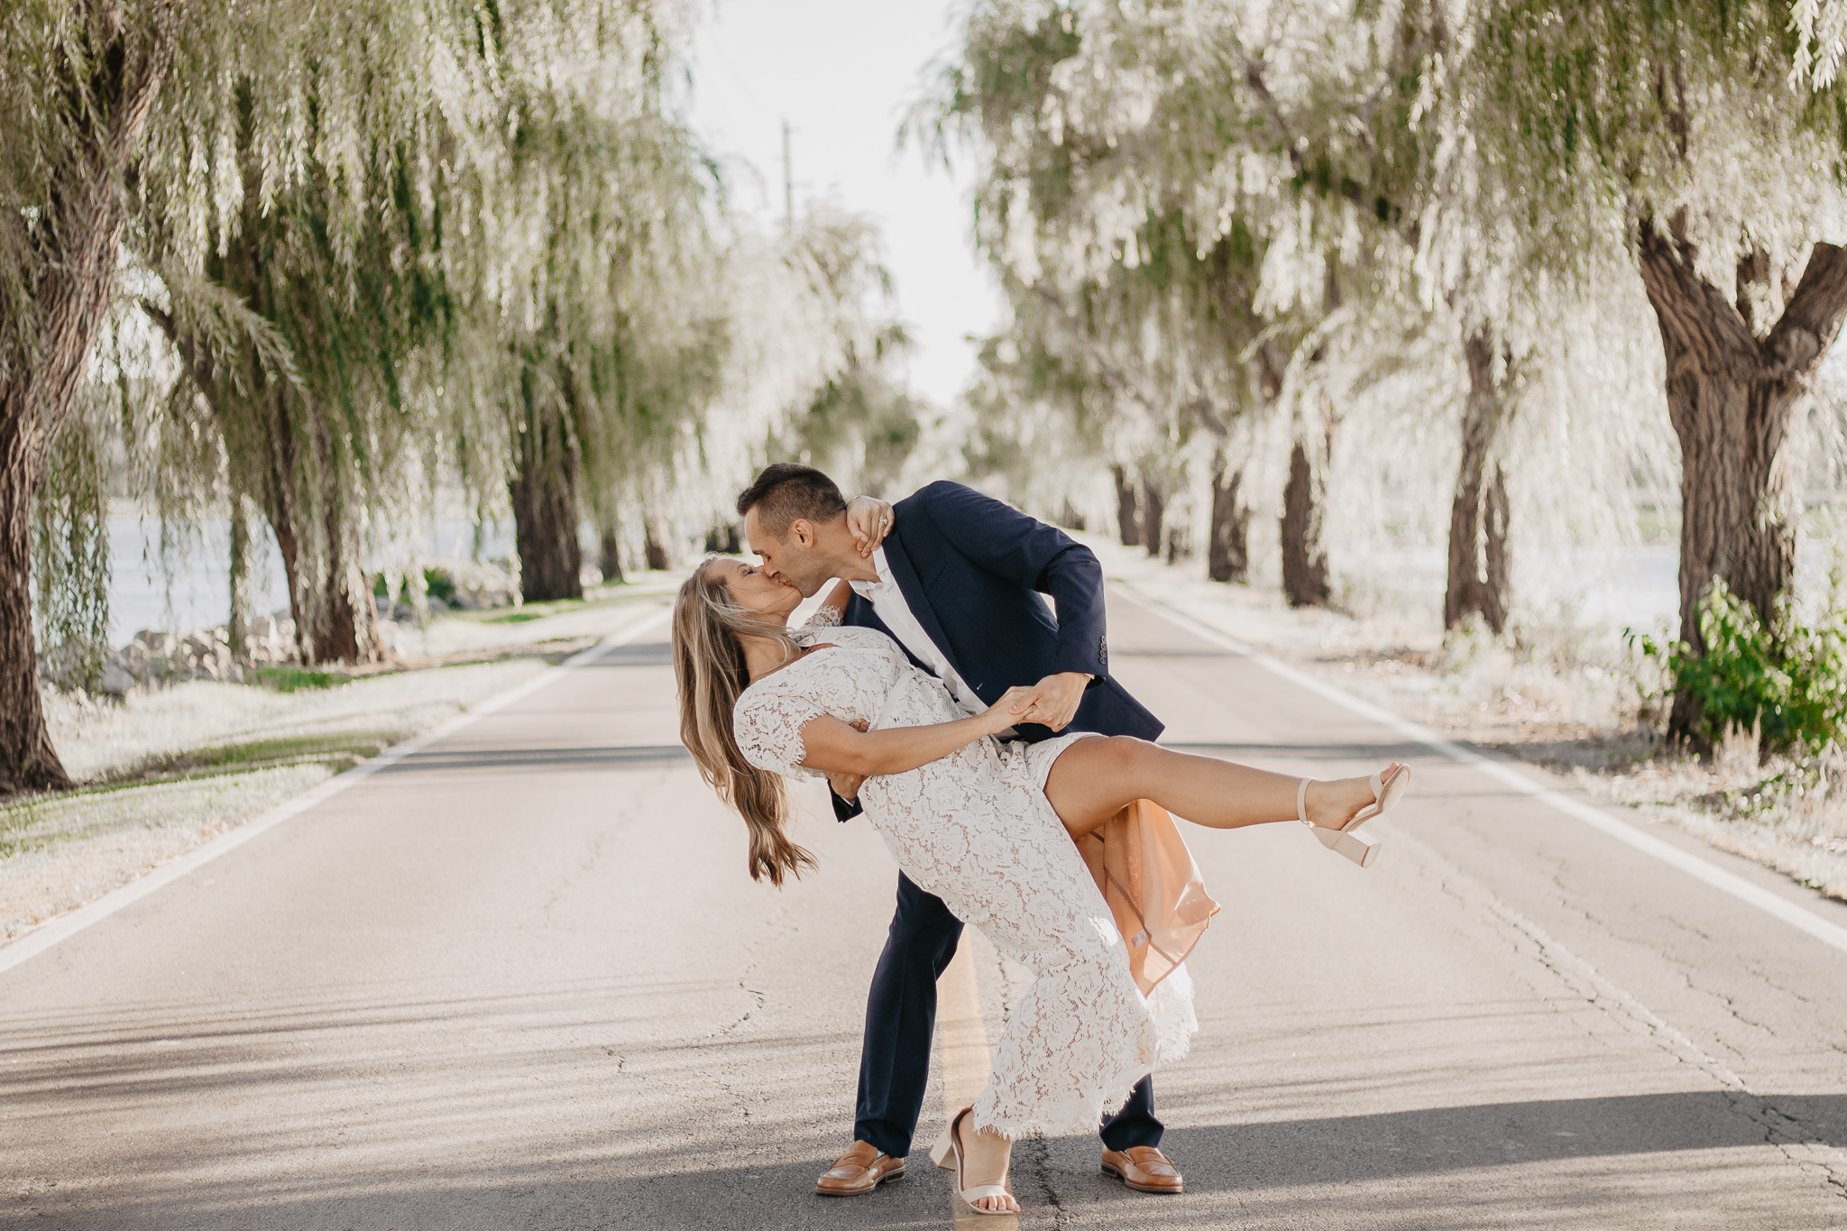
M 1611 1157 L 1666 1152 L 1720 1152 L 1764 1146 L 1764 1128 L 1729 1093 L 1636 1094 L 1618 1098 L 1566 1098 L 1467 1107 L 1426 1107 L 1387 1115 L 1280 1120 L 1273 1124 L 1226 1124 L 1171 1129 L 1164 1146 L 1182 1161 L 1188 1196 L 1162 1200 L 1129 1194 L 1095 1170 L 1095 1144 L 1058 1139 L 1036 1148 L 1036 1165 L 1016 1176 L 1029 1207 L 1077 1213 L 1092 1207 L 1106 1225 L 1225 1225 L 1230 1211 L 1243 1220 L 1300 1225 L 1295 1220 L 1326 1220 L 1337 1203 L 1361 1201 L 1376 1225 L 1546 1225 L 1550 1216 L 1577 1220 L 1600 1207 L 1618 1222 L 1620 1211 L 1659 1179 L 1651 1161 L 1612 1165 Z M 1847 1096 L 1773 1094 L 1760 1100 L 1799 1118 L 1816 1131 L 1810 1139 L 1847 1144 Z M 323 1124 L 331 1133 L 334 1124 Z M 351 1225 L 646 1225 L 646 1227 L 925 1227 L 944 1225 L 948 1190 L 922 1150 L 911 1157 L 911 1176 L 859 1200 L 813 1196 L 815 1176 L 827 1159 L 803 1131 L 783 1139 L 774 1161 L 755 1166 L 724 1166 L 737 1152 L 763 1157 L 774 1141 L 737 1139 L 737 1126 L 718 1129 L 720 1139 L 659 1148 L 645 1126 L 611 1124 L 600 1150 L 582 1146 L 560 1157 L 508 1163 L 486 1159 L 464 1146 L 464 1157 L 425 1157 L 416 1165 L 371 1165 L 344 1179 L 251 1176 L 240 1183 L 201 1181 L 175 1166 L 172 1174 L 144 1174 L 139 1181 L 105 1183 L 103 1192 L 17 1192 L 11 1213 L 39 1213 L 72 1227 L 163 1227 L 259 1218 L 283 1227 Z M 754 1137 L 744 1129 L 746 1137 Z M 774 1137 L 774 1131 L 772 1131 Z M 650 1141 L 652 1139 L 652 1141 Z M 634 1142 L 641 1148 L 624 1148 Z M 643 1144 L 646 1142 L 646 1144 Z M 460 1142 L 458 1142 L 460 1144 Z M 404 1141 L 410 1155 L 423 1155 L 419 1142 Z M 477 1146 L 478 1148 L 478 1146 Z M 473 1165 L 465 1159 L 477 1153 Z M 1021 1155 L 1021 1161 L 1027 1161 Z M 1596 1163 L 1596 1159 L 1605 1159 Z M 1592 1166 L 1598 1183 L 1585 1185 Z M 1539 1166 L 1533 1165 L 1564 1165 Z M 1708 1170 L 1738 1165 L 1738 1155 L 1714 1155 Z M 1520 1189 L 1531 1205 L 1509 1205 L 1503 1168 L 1522 1168 Z M 1498 1198 L 1478 1192 L 1470 1174 L 1489 1183 L 1485 1172 L 1502 1170 L 1492 1181 Z M 1417 1205 L 1402 1205 L 1406 1192 L 1391 1181 L 1420 1174 L 1450 1174 L 1444 1189 L 1459 1189 L 1431 1203 L 1431 1190 L 1418 1189 Z M 1740 1179 L 1744 1179 L 1740 1176 Z M 1383 1181 L 1376 1189 L 1356 1187 Z M 1640 1185 L 1631 1189 L 1629 1185 Z M 1031 1189 L 1044 1187 L 1034 1194 Z M 98 1200 L 102 1198 L 102 1200 Z M 1657 1198 L 1659 1200 L 1659 1198 Z M 1228 1205 L 1230 1201 L 1230 1205 Z M 1455 1222 L 1457 1203 L 1474 1201 L 1485 1222 Z M 1437 1209 L 1444 1205 L 1448 1209 Z M 1346 1205 L 1348 1213 L 1354 1211 Z M 1291 1214 L 1293 1211 L 1293 1214 Z M 1492 1211 L 1492 1216 L 1489 1216 Z M 1627 1211 L 1635 1213 L 1635 1211 Z M 1134 1222 L 1125 1222 L 1132 1218 Z M 1409 1222 L 1407 1222 L 1409 1220 Z M 1332 1224 L 1341 1220 L 1335 1216 Z M 1369 1224 L 1369 1225 L 1372 1225 Z M 242 1225 L 242 1224 L 238 1224 Z M 1062 1225 L 1062 1224 L 1060 1224 Z M 1624 1224 L 1627 1225 L 1627 1224 Z

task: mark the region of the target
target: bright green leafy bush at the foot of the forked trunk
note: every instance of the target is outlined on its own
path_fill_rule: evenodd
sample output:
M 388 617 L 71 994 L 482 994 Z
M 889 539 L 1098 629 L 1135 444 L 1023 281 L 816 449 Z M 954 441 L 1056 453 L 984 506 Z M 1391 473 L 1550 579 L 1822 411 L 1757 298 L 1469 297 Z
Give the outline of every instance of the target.
M 1655 659 L 1670 681 L 1699 703 L 1708 740 L 1727 731 L 1756 731 L 1766 751 L 1819 753 L 1847 729 L 1847 611 L 1810 624 L 1788 611 L 1775 627 L 1716 581 L 1699 602 L 1707 651 L 1625 631 L 1629 644 Z

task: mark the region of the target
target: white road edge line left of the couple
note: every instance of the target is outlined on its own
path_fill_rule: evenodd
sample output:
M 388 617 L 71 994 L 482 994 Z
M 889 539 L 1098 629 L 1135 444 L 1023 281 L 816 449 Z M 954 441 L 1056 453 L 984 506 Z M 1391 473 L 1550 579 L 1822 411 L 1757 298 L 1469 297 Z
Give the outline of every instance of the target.
M 166 862 L 166 864 L 161 864 L 159 867 L 155 867 L 148 875 L 139 877 L 135 880 L 129 880 L 122 888 L 111 890 L 109 893 L 103 893 L 102 897 L 98 897 L 98 899 L 94 899 L 94 901 L 91 901 L 91 902 L 87 902 L 83 906 L 78 906 L 70 914 L 59 915 L 57 919 L 54 919 L 54 921 L 50 921 L 50 923 L 46 923 L 42 926 L 37 926 L 31 932 L 26 932 L 17 941 L 13 941 L 13 943 L 6 945 L 4 949 L 0 949 L 0 973 L 11 971 L 15 965 L 20 965 L 22 962 L 30 962 L 31 958 L 37 958 L 41 952 L 44 952 L 52 945 L 57 945 L 59 941 L 70 939 L 72 936 L 76 936 L 83 928 L 91 926 L 92 923 L 100 923 L 100 921 L 107 919 L 109 915 L 116 914 L 118 910 L 122 910 L 124 906 L 131 906 L 131 904 L 139 902 L 140 899 L 148 897 L 155 890 L 161 890 L 161 888 L 164 888 L 164 886 L 179 880 L 187 873 L 192 873 L 198 867 L 203 867 L 205 864 L 211 864 L 220 855 L 235 851 L 236 847 L 244 845 L 251 838 L 255 838 L 255 836 L 259 836 L 259 834 L 262 834 L 262 832 L 266 832 L 270 829 L 275 829 L 283 821 L 290 821 L 290 819 L 301 816 L 303 812 L 307 812 L 308 808 L 312 808 L 316 805 L 321 805 L 321 803 L 327 803 L 329 799 L 332 799 L 334 795 L 338 795 L 340 792 L 344 792 L 347 786 L 355 786 L 358 783 L 364 783 L 366 779 L 369 779 L 379 770 L 393 766 L 399 760 L 403 760 L 404 757 L 410 757 L 412 753 L 423 751 L 430 744 L 454 735 L 462 727 L 467 727 L 469 723 L 473 723 L 473 722 L 477 722 L 480 718 L 486 718 L 488 714 L 493 714 L 497 711 L 506 709 L 513 701 L 526 699 L 528 696 L 532 696 L 539 688 L 545 688 L 547 685 L 558 683 L 558 679 L 561 679 L 563 675 L 574 672 L 576 668 L 587 666 L 589 663 L 595 663 L 597 659 L 600 659 L 602 655 L 610 653 L 611 650 L 615 650 L 619 646 L 626 646 L 628 642 L 635 640 L 637 637 L 643 637 L 645 633 L 654 631 L 659 624 L 663 624 L 667 620 L 669 615 L 670 615 L 670 609 L 659 609 L 659 611 L 654 611 L 650 615 L 645 615 L 639 620 L 635 620 L 634 624 L 630 624 L 626 629 L 622 629 L 621 633 L 611 633 L 610 637 L 602 639 L 600 642 L 597 642 L 589 650 L 582 650 L 582 651 L 571 655 L 569 659 L 565 659 L 558 666 L 552 666 L 552 668 L 549 668 L 545 672 L 539 672 L 537 675 L 534 675 L 526 683 L 513 685 L 512 688 L 508 688 L 504 692 L 497 692 L 491 698 L 488 698 L 486 701 L 482 701 L 480 705 L 477 705 L 475 709 L 469 709 L 465 712 L 456 714 L 454 718 L 451 718 L 449 722 L 441 723 L 440 727 L 434 727 L 432 731 L 425 731 L 423 735 L 412 736 L 412 738 L 404 740 L 403 744 L 393 744 L 392 747 L 384 749 L 382 753 L 379 753 L 371 760 L 360 762 L 360 764 L 353 766 L 351 770 L 347 770 L 345 773 L 336 773 L 334 777 L 327 779 L 325 783 L 321 783 L 314 790 L 303 792 L 301 795 L 296 795 L 288 803 L 277 805 L 277 807 L 270 808 L 268 812 L 257 816 L 255 819 L 246 821 L 246 823 L 242 823 L 236 829 L 231 829 L 227 832 L 222 832 L 222 834 L 218 834 L 216 838 L 212 838 L 211 842 L 207 842 L 203 845 L 192 847 L 190 851 L 187 851 L 179 858 L 175 858 L 172 862 Z

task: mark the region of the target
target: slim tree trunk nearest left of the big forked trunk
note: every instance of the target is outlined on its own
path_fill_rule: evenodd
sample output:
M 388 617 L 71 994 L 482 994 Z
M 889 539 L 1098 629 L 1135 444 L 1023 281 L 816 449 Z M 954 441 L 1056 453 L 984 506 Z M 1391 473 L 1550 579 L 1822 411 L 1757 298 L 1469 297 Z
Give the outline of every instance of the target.
M 1450 580 L 1443 627 L 1479 613 L 1494 635 L 1507 627 L 1507 472 L 1500 439 L 1507 402 L 1494 384 L 1494 340 L 1481 329 L 1463 341 L 1468 406 L 1463 410 L 1463 465 L 1450 502 Z

